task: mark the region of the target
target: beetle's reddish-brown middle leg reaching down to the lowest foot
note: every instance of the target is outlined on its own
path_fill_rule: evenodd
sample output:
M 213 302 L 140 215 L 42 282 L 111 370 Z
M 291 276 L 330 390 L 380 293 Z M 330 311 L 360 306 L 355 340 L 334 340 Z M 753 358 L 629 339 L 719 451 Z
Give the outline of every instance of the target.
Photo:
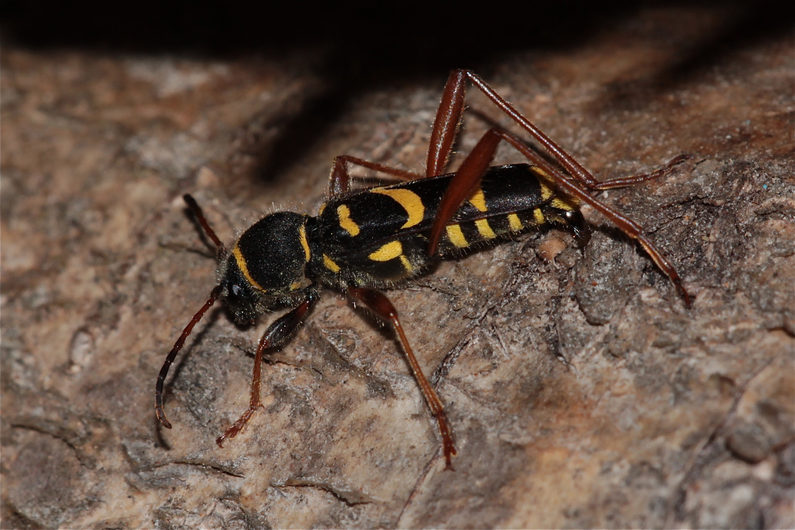
M 422 373 L 420 363 L 417 362 L 417 358 L 414 357 L 414 352 L 411 346 L 409 346 L 409 340 L 405 338 L 403 327 L 401 326 L 400 320 L 397 319 L 397 311 L 395 311 L 394 306 L 385 295 L 371 288 L 349 287 L 347 289 L 347 296 L 350 296 L 355 302 L 363 304 L 366 308 L 370 309 L 370 311 L 373 311 L 378 318 L 386 320 L 386 322 L 392 324 L 392 327 L 394 327 L 395 332 L 397 332 L 397 337 L 403 345 L 405 356 L 409 360 L 409 366 L 414 374 L 414 379 L 417 380 L 422 395 L 425 397 L 425 403 L 427 403 L 428 407 L 431 409 L 432 415 L 436 416 L 436 423 L 439 425 L 439 433 L 442 437 L 446 469 L 453 470 L 452 456 L 456 455 L 456 445 L 452 439 L 452 429 L 448 424 L 447 415 L 444 414 L 444 405 L 439 399 L 439 396 L 436 395 L 436 390 L 433 389 L 430 382 L 425 377 L 425 374 Z

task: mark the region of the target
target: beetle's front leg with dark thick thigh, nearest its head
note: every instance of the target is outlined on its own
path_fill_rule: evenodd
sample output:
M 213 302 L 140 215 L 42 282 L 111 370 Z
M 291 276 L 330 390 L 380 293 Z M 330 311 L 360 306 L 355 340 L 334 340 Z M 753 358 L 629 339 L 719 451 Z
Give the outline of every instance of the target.
M 293 335 L 293 331 L 296 331 L 297 328 L 301 326 L 301 323 L 304 321 L 304 316 L 307 311 L 309 311 L 309 308 L 312 307 L 315 300 L 316 295 L 311 293 L 303 304 L 286 315 L 282 315 L 262 334 L 262 339 L 259 339 L 259 345 L 257 346 L 257 353 L 254 355 L 254 375 L 251 377 L 249 408 L 246 412 L 243 412 L 242 416 L 240 416 L 235 424 L 229 427 L 223 435 L 220 435 L 218 439 L 215 440 L 215 443 L 217 443 L 219 447 L 223 447 L 223 441 L 225 439 L 235 438 L 235 436 L 242 431 L 242 428 L 246 426 L 254 412 L 257 412 L 257 409 L 262 407 L 262 401 L 259 396 L 260 376 L 262 373 L 262 353 L 265 350 L 276 348 L 284 344 L 285 341 L 289 339 L 290 335 Z

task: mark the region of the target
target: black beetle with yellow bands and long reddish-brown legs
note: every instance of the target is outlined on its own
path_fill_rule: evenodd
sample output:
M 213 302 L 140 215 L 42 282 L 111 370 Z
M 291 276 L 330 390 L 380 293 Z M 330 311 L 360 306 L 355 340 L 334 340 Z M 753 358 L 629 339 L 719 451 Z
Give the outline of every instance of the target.
M 467 79 L 530 133 L 563 170 L 513 134 L 492 128 L 458 171 L 444 174 L 463 114 Z M 500 141 L 518 149 L 530 164 L 489 167 Z M 690 297 L 679 275 L 643 234 L 642 227 L 588 193 L 656 178 L 687 158 L 687 155 L 676 157 L 655 172 L 599 182 L 483 79 L 466 70 L 455 70 L 448 78 L 436 112 L 425 176 L 354 157 L 336 157 L 329 198 L 319 215 L 289 211 L 266 215 L 242 233 L 231 252 L 227 252 L 208 225 L 196 201 L 185 195 L 186 203 L 217 246 L 222 279 L 165 359 L 155 390 L 157 418 L 163 426 L 171 427 L 163 410 L 165 377 L 185 339 L 215 300 L 223 298 L 238 323 L 248 323 L 274 308 L 291 307 L 260 339 L 254 358 L 249 408 L 216 442 L 221 445 L 225 439 L 234 438 L 261 405 L 263 352 L 289 339 L 318 299 L 321 288 L 335 288 L 394 328 L 425 401 L 436 416 L 445 462 L 452 469 L 456 447 L 444 406 L 417 363 L 397 311 L 377 289 L 391 288 L 417 277 L 438 259 L 456 257 L 474 245 L 498 241 L 537 226 L 567 226 L 578 244 L 584 245 L 590 238 L 590 229 L 578 206 L 588 203 L 641 244 L 689 306 Z M 348 164 L 384 172 L 405 182 L 351 191 Z

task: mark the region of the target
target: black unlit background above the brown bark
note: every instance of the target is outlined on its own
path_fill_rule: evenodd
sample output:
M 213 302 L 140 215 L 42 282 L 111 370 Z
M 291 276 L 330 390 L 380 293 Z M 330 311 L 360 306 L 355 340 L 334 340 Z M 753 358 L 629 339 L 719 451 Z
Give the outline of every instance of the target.
M 47 2 L 0 5 L 4 44 L 230 57 L 314 48 L 349 83 L 479 68 L 517 50 L 576 48 L 653 7 L 704 7 L 731 23 L 692 50 L 687 71 L 792 25 L 791 2 Z M 483 72 L 487 75 L 488 72 Z

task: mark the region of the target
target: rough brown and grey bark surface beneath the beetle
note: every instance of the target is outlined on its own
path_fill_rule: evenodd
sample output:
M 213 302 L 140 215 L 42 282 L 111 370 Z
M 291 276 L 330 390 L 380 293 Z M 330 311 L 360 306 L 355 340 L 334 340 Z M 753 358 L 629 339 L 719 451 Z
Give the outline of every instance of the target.
M 600 196 L 695 302 L 589 211 L 583 250 L 528 234 L 390 292 L 447 404 L 455 473 L 390 333 L 333 292 L 269 356 L 265 408 L 223 449 L 270 318 L 211 311 L 169 378 L 173 430 L 152 410 L 214 285 L 180 195 L 231 242 L 272 207 L 316 211 L 336 154 L 421 169 L 444 75 L 359 95 L 263 181 L 324 91 L 309 60 L 6 48 L 3 528 L 793 528 L 792 34 L 694 60 L 726 24 L 651 10 L 489 64 L 601 178 L 694 155 Z M 469 116 L 460 151 L 485 127 Z

